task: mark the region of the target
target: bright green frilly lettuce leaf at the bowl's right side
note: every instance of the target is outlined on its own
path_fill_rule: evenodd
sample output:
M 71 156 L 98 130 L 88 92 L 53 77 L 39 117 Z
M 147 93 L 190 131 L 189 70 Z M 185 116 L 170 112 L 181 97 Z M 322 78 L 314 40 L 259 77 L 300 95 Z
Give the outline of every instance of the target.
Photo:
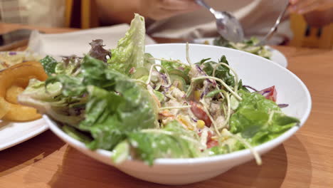
M 282 113 L 272 100 L 258 93 L 239 90 L 243 100 L 231 115 L 230 131 L 248 140 L 251 145 L 260 145 L 281 135 L 300 122 L 295 117 Z

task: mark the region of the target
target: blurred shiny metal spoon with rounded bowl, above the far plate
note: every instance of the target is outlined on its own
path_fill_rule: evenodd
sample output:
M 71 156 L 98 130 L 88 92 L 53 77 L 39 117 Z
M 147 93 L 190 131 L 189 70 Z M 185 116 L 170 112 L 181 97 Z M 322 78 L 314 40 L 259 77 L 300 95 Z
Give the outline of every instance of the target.
M 196 4 L 205 7 L 215 16 L 217 31 L 223 38 L 233 42 L 243 41 L 243 28 L 235 16 L 227 11 L 216 11 L 203 0 L 196 0 Z

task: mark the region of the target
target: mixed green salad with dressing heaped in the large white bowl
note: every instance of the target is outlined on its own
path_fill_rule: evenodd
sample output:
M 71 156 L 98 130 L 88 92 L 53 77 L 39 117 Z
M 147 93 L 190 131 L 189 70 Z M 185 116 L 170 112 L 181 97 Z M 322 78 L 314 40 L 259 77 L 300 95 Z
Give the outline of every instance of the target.
M 157 59 L 144 53 L 144 36 L 144 18 L 135 14 L 111 51 L 95 40 L 84 58 L 46 56 L 48 79 L 31 79 L 18 101 L 56 120 L 90 150 L 112 151 L 116 164 L 253 150 L 299 122 L 275 103 L 274 86 L 250 92 L 226 56 Z

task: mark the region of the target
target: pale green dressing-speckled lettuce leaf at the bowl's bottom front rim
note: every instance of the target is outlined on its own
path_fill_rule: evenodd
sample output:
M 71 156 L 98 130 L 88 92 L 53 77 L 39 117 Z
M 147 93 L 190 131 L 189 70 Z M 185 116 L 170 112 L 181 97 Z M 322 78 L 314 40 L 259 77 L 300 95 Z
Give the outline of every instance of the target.
M 184 129 L 175 120 L 156 132 L 132 132 L 128 140 L 134 148 L 135 157 L 150 165 L 157 158 L 189 158 L 202 155 L 196 132 Z

